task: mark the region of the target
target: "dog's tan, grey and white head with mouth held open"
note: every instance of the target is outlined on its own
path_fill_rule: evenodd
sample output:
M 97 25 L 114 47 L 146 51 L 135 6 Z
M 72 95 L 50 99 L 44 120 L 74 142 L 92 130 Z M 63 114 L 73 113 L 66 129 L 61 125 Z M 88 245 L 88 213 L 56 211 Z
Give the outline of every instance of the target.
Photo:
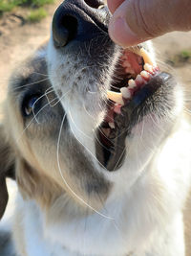
M 11 79 L 4 127 L 17 183 L 43 206 L 102 209 L 138 180 L 180 114 L 180 86 L 151 43 L 115 45 L 110 15 L 102 1 L 65 0 L 48 46 Z

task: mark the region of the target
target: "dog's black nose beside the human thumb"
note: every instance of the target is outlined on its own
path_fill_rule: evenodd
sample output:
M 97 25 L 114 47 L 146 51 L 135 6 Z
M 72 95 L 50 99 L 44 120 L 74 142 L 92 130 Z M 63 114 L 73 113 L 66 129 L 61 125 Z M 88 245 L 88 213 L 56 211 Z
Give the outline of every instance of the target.
M 110 12 L 101 0 L 65 0 L 53 15 L 53 42 L 64 47 L 108 33 Z

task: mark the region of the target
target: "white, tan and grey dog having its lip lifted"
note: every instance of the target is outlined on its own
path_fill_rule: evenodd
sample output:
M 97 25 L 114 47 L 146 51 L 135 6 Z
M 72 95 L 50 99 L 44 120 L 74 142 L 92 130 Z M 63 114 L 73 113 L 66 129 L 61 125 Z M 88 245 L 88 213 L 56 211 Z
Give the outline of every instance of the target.
M 15 176 L 16 255 L 191 255 L 182 85 L 150 42 L 117 46 L 110 17 L 102 1 L 65 0 L 49 42 L 11 77 L 0 216 Z

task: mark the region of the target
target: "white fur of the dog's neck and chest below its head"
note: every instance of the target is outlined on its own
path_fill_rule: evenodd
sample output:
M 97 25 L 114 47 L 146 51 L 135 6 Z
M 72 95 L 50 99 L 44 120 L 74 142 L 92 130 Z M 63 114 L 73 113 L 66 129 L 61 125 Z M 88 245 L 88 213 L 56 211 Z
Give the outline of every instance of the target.
M 159 151 L 131 190 L 119 195 L 114 186 L 101 211 L 105 217 L 87 209 L 87 216 L 73 218 L 66 216 L 62 207 L 52 215 L 53 209 L 45 211 L 35 201 L 19 196 L 27 255 L 122 256 L 134 252 L 158 256 L 162 249 L 166 253 L 162 256 L 174 256 L 171 247 L 177 248 L 177 255 L 184 255 L 180 211 L 190 183 L 191 160 L 187 154 L 191 151 L 191 135 L 183 119 Z M 57 203 L 61 205 L 62 199 Z

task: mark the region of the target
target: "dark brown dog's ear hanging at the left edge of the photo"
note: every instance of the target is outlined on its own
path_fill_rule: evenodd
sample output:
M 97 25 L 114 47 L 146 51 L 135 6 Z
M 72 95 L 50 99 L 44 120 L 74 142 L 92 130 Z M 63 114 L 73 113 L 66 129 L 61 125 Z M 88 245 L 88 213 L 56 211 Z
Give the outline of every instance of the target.
M 0 126 L 0 220 L 3 217 L 8 203 L 9 195 L 6 177 L 14 178 L 14 157 L 5 136 L 3 126 Z

